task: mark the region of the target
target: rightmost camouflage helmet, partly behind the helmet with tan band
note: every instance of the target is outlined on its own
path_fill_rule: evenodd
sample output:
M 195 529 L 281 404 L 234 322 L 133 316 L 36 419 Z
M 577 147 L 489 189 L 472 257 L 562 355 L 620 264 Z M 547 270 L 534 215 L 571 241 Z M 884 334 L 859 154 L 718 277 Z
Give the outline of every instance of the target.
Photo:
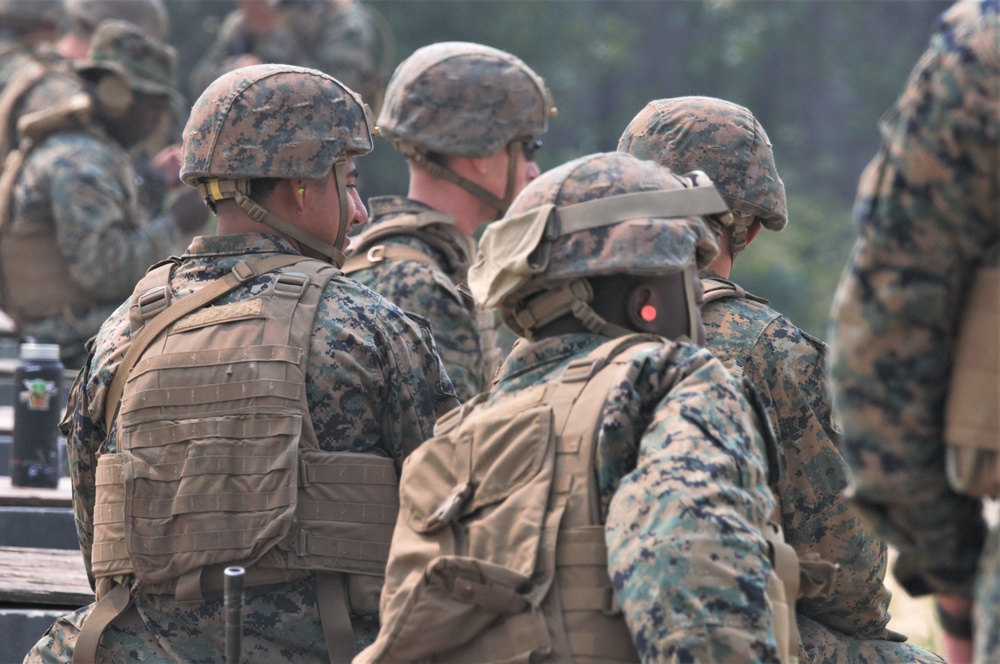
M 754 217 L 772 231 L 788 223 L 771 141 L 742 106 L 712 97 L 652 101 L 629 123 L 618 149 L 672 170 L 708 173 L 733 211 L 734 258 L 746 247 Z

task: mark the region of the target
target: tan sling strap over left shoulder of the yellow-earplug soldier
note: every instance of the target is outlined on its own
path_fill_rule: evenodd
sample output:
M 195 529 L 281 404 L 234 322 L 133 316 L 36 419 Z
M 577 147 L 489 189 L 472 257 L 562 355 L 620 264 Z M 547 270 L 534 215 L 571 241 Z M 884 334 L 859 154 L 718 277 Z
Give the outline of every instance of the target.
M 115 377 L 108 387 L 108 394 L 104 402 L 104 421 L 107 426 L 108 436 L 114 430 L 115 419 L 118 415 L 118 408 L 121 405 L 122 392 L 125 390 L 125 382 L 132 371 L 132 367 L 139 360 L 139 357 L 146 350 L 150 343 L 158 337 L 164 330 L 174 322 L 180 320 L 187 314 L 200 309 L 206 304 L 219 299 L 226 293 L 238 288 L 251 279 L 255 279 L 262 274 L 272 270 L 277 270 L 288 265 L 293 265 L 303 260 L 308 260 L 304 256 L 277 254 L 262 258 L 254 262 L 243 261 L 233 268 L 232 272 L 216 279 L 208 285 L 202 287 L 196 293 L 178 300 L 167 307 L 163 312 L 149 321 L 142 331 L 132 340 L 125 358 L 115 370 Z M 105 441 L 107 449 L 107 441 Z

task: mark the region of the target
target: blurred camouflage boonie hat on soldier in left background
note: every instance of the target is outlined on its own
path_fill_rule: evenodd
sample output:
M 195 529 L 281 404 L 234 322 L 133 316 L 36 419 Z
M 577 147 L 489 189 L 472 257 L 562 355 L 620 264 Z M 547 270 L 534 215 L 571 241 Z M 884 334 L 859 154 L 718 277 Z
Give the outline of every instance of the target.
M 126 21 L 105 21 L 90 42 L 87 59 L 76 71 L 90 79 L 96 73 L 116 74 L 137 92 L 175 94 L 174 71 L 177 52 Z

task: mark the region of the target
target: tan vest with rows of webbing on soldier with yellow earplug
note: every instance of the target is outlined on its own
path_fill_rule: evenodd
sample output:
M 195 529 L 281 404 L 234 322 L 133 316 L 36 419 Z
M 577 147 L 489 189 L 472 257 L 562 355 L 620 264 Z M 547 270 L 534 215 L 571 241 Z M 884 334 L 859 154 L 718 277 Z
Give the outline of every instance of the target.
M 306 366 L 317 307 L 338 271 L 285 258 L 293 265 L 263 294 L 187 314 L 127 374 L 118 451 L 96 470 L 98 608 L 115 605 L 105 610 L 113 620 L 136 593 L 198 601 L 222 590 L 229 565 L 245 567 L 251 586 L 318 572 L 331 661 L 350 661 L 347 602 L 355 615 L 377 614 L 396 469 L 389 458 L 319 448 Z M 134 340 L 169 314 L 173 267 L 161 264 L 136 287 Z

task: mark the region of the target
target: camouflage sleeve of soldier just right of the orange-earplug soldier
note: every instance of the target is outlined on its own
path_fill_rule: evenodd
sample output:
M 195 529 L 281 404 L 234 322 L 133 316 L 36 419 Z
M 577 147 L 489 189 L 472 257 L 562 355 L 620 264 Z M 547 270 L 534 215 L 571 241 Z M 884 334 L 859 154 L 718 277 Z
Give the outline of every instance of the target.
M 777 437 L 782 468 L 774 488 L 786 541 L 799 555 L 818 553 L 840 565 L 837 585 L 824 597 L 800 599 L 796 610 L 849 636 L 877 637 L 889 622 L 886 547 L 848 502 L 825 355 L 822 342 L 779 317 L 754 345 L 743 375 L 761 395 Z

